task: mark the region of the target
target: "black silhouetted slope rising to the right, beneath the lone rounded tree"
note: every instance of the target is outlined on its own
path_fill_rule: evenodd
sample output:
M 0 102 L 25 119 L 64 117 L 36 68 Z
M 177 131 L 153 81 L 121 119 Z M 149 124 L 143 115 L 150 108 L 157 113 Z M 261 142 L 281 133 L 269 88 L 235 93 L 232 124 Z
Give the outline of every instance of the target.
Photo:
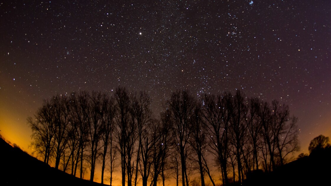
M 314 152 L 266 174 L 255 172 L 243 185 L 331 185 L 331 148 Z

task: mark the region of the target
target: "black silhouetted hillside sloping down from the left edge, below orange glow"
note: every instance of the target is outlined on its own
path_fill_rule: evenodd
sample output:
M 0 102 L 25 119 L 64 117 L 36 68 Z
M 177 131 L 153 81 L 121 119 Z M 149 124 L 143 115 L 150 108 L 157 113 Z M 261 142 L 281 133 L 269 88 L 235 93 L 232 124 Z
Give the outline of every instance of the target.
M 0 185 L 102 186 L 50 167 L 0 138 Z

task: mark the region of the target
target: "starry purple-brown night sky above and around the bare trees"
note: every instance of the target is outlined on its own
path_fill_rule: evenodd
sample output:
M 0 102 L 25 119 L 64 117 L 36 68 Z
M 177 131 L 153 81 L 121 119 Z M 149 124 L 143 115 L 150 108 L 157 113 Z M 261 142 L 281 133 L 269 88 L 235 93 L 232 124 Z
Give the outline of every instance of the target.
M 43 99 L 235 92 L 289 105 L 301 152 L 331 137 L 331 1 L 1 1 L 0 134 L 26 151 Z

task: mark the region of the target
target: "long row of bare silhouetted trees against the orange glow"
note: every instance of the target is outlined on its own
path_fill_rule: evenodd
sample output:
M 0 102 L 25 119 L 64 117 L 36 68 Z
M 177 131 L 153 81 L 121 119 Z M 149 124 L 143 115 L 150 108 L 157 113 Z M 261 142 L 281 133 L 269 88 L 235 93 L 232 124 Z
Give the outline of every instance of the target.
M 205 179 L 215 186 L 214 180 L 241 183 L 253 170 L 274 170 L 299 150 L 297 118 L 276 100 L 247 98 L 239 90 L 197 99 L 177 90 L 159 118 L 150 106 L 146 92 L 123 87 L 114 95 L 56 95 L 27 118 L 34 152 L 80 178 L 89 170 L 91 181 L 101 162 L 101 182 L 108 167 L 110 185 L 116 163 L 123 186 L 165 185 L 171 177 L 189 186 L 194 175 L 202 186 Z

